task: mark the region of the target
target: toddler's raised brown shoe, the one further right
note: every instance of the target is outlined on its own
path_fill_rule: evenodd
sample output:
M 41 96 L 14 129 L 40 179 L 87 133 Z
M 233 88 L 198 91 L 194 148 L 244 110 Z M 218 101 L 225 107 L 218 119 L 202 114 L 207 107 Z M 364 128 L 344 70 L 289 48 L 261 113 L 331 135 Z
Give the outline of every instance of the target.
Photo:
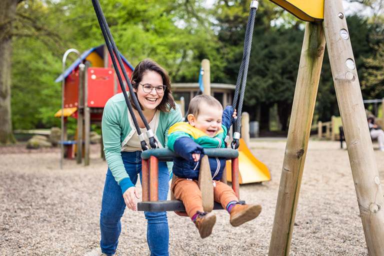
M 239 226 L 246 221 L 252 220 L 261 212 L 260 204 L 239 204 L 236 203 L 230 210 L 230 224 Z

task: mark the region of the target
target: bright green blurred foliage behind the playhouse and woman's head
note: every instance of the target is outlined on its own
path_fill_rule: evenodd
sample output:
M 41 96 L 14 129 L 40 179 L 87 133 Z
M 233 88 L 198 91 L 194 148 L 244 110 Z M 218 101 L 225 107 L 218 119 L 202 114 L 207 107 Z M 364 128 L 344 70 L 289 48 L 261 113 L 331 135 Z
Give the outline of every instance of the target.
M 196 81 L 202 58 L 219 76 L 219 45 L 202 0 L 100 0 L 119 51 L 136 65 L 152 58 L 172 81 Z M 12 122 L 15 129 L 60 126 L 62 54 L 104 43 L 89 0 L 27 0 L 18 5 L 12 55 Z M 74 60 L 68 55 L 66 67 Z M 69 118 L 71 119 L 71 118 Z M 71 123 L 68 124 L 70 129 Z

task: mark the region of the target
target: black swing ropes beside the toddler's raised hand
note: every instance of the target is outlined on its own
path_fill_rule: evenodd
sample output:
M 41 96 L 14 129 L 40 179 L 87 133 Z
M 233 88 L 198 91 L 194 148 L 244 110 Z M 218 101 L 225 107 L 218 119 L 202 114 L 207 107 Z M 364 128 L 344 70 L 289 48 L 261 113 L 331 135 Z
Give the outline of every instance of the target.
M 240 99 L 238 100 L 238 108 L 237 108 L 237 119 L 236 119 L 236 128 L 235 132 L 233 133 L 233 140 L 230 144 L 231 148 L 237 149 L 239 146 L 239 139 L 240 139 L 240 129 L 241 129 L 241 109 L 242 109 L 242 103 L 244 100 L 244 93 L 245 93 L 245 84 L 246 84 L 246 77 L 248 74 L 248 66 L 249 66 L 249 55 L 250 55 L 250 48 L 252 44 L 252 34 L 253 34 L 253 27 L 254 27 L 254 19 L 256 16 L 256 10 L 258 8 L 258 1 L 252 0 L 250 2 L 250 11 L 249 11 L 249 17 L 246 24 L 246 30 L 245 30 L 245 39 L 244 39 L 244 51 L 242 55 L 241 65 L 237 76 L 237 82 L 236 82 L 236 88 L 234 91 L 233 96 L 233 109 L 236 109 L 237 105 L 237 99 L 238 94 L 240 90 L 240 83 L 241 83 L 241 92 L 240 92 Z M 242 79 L 242 81 L 241 81 Z M 233 117 L 231 117 L 232 121 Z M 229 137 L 227 136 L 226 140 Z

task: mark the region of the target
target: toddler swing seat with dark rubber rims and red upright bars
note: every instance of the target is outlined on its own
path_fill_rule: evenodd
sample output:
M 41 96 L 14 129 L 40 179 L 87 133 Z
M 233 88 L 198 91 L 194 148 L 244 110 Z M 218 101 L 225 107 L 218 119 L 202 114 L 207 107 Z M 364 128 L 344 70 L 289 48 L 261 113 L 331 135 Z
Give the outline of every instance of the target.
M 232 189 L 239 197 L 238 151 L 230 148 L 204 148 L 204 153 L 210 157 L 223 157 L 231 160 Z M 142 162 L 142 201 L 137 203 L 137 209 L 143 211 L 183 211 L 180 200 L 158 201 L 158 161 L 173 161 L 178 156 L 168 148 L 155 148 L 141 153 Z M 225 173 L 225 170 L 224 170 Z M 240 200 L 241 201 L 241 200 Z M 214 202 L 213 209 L 222 209 L 221 204 Z

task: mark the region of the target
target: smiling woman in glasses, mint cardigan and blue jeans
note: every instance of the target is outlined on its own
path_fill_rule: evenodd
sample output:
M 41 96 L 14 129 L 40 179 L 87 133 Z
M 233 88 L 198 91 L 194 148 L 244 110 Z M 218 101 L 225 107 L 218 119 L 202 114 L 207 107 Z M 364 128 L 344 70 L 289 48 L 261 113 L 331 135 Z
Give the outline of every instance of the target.
M 131 83 L 159 147 L 164 147 L 169 127 L 182 120 L 181 111 L 173 101 L 169 75 L 156 62 L 144 59 L 133 70 Z M 129 100 L 141 133 L 145 134 L 145 125 L 133 105 L 131 95 Z M 120 218 L 125 205 L 131 210 L 137 209 L 135 198 L 139 198 L 139 194 L 134 184 L 138 175 L 141 181 L 140 141 L 122 93 L 112 96 L 106 102 L 101 128 L 108 170 L 100 213 L 101 250 L 96 250 L 99 251 L 98 255 L 112 255 L 116 251 L 121 231 Z M 149 145 L 147 137 L 146 141 Z M 169 173 L 167 164 L 159 162 L 159 200 L 167 198 Z M 147 219 L 146 237 L 150 255 L 168 255 L 169 230 L 166 212 L 144 214 Z

